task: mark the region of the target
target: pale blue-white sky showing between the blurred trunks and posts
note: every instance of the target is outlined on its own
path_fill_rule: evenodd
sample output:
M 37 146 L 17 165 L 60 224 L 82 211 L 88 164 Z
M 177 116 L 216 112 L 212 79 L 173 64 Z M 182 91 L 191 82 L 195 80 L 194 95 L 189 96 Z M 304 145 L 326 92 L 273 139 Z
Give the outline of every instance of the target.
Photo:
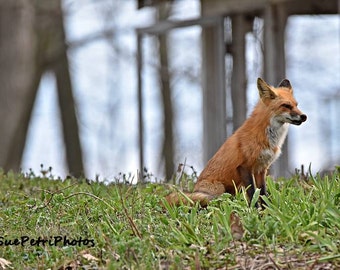
M 114 179 L 119 173 L 138 169 L 138 114 L 136 73 L 136 27 L 153 23 L 152 9 L 136 9 L 136 1 L 64 1 L 65 27 L 71 50 L 68 53 L 74 96 L 81 132 L 86 175 Z M 179 1 L 174 19 L 199 14 L 196 1 Z M 110 38 L 98 39 L 81 47 L 82 40 L 103 30 Z M 313 171 L 329 162 L 340 162 L 340 124 L 334 96 L 340 93 L 340 18 L 337 16 L 293 16 L 286 34 L 287 78 L 299 107 L 308 121 L 292 126 L 289 133 L 291 168 L 312 164 Z M 202 161 L 202 95 L 200 88 L 200 29 L 173 31 L 170 54 L 174 72 L 176 162 L 193 165 L 199 172 Z M 247 35 L 247 75 L 249 109 L 255 105 L 261 50 L 254 33 Z M 143 40 L 145 69 L 146 166 L 157 178 L 160 170 L 162 118 L 159 109 L 154 38 Z M 185 74 L 185 75 L 183 75 Z M 329 104 L 326 101 L 331 100 Z M 46 74 L 41 82 L 33 111 L 22 162 L 24 171 L 39 172 L 41 164 L 51 166 L 55 176 L 67 175 L 65 149 L 61 136 L 55 81 Z M 332 160 L 333 159 L 333 160 Z

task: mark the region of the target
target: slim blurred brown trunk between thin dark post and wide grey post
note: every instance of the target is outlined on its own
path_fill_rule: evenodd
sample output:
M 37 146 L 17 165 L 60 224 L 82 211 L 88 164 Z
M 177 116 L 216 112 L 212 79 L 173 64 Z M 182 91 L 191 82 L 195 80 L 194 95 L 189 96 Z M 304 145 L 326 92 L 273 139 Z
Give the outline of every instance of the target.
M 170 5 L 166 2 L 159 4 L 159 20 L 165 20 L 169 16 Z M 167 36 L 162 34 L 158 36 L 159 59 L 160 59 L 160 84 L 161 96 L 163 101 L 164 115 L 164 139 L 163 139 L 163 156 L 165 162 L 165 176 L 170 181 L 174 174 L 174 142 L 173 142 L 173 107 L 171 99 L 171 85 L 168 63 L 168 46 Z

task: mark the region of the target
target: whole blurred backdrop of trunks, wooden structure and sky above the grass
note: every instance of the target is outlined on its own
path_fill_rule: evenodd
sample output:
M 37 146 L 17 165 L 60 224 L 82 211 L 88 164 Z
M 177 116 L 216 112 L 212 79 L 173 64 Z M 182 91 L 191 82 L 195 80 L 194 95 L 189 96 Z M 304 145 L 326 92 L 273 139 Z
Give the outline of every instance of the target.
M 0 167 L 199 173 L 256 104 L 257 77 L 286 77 L 308 120 L 273 173 L 332 169 L 339 12 L 339 0 L 1 0 Z

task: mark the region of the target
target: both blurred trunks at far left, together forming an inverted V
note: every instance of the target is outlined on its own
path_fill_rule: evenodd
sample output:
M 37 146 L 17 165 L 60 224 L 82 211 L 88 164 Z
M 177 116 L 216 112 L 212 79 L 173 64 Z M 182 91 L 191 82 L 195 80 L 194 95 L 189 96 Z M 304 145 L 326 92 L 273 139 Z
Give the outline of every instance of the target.
M 61 0 L 0 2 L 0 167 L 20 169 L 43 73 L 54 72 L 69 171 L 83 174 Z

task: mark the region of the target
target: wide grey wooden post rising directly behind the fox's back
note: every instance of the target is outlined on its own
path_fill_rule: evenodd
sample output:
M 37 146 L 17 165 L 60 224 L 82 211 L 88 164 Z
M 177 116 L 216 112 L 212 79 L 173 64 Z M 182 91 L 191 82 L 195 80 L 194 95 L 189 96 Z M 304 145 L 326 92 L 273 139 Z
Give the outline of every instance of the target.
M 223 22 L 223 17 L 218 17 L 216 24 L 202 29 L 204 163 L 220 148 L 227 134 Z

